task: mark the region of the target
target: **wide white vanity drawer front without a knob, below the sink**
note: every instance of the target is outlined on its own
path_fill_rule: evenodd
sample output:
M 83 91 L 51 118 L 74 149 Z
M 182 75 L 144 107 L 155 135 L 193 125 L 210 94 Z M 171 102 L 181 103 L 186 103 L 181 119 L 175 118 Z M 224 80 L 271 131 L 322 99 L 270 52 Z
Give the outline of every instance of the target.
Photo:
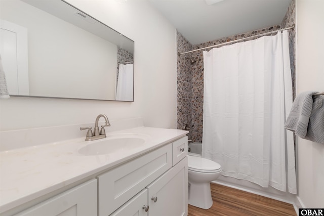
M 97 176 L 99 216 L 111 214 L 171 167 L 168 144 Z

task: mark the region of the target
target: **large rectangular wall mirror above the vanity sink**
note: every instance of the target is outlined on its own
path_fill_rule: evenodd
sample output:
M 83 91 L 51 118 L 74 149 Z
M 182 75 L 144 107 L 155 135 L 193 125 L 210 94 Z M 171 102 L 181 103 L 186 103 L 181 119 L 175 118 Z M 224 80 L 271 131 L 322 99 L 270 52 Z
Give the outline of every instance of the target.
M 133 101 L 134 41 L 62 0 L 0 0 L 12 96 Z

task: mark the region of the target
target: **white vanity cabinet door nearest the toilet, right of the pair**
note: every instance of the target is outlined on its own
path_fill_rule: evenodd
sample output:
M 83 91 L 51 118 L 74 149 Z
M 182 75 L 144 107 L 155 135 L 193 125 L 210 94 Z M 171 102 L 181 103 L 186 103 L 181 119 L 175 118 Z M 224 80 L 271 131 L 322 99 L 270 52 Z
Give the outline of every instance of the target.
M 188 213 L 188 157 L 147 186 L 148 215 L 186 216 Z

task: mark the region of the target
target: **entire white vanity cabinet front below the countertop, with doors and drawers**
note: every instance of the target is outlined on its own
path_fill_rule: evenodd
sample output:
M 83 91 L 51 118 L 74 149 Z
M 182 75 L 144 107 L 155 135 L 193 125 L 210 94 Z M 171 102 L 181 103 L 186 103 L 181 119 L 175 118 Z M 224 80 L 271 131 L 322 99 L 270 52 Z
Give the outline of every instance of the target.
M 14 215 L 185 216 L 188 208 L 187 149 L 185 136 L 93 174 L 89 177 L 92 180 L 62 193 L 52 192 L 52 198 Z M 25 209 L 23 205 L 19 208 Z M 13 213 L 7 211 L 0 215 Z

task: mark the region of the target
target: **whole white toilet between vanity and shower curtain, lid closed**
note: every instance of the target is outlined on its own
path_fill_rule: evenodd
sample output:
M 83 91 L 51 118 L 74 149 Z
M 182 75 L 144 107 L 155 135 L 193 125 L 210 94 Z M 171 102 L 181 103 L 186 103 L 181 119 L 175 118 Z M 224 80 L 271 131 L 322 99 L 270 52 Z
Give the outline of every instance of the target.
M 203 209 L 212 207 L 210 183 L 218 178 L 221 170 L 215 161 L 188 154 L 188 204 Z

